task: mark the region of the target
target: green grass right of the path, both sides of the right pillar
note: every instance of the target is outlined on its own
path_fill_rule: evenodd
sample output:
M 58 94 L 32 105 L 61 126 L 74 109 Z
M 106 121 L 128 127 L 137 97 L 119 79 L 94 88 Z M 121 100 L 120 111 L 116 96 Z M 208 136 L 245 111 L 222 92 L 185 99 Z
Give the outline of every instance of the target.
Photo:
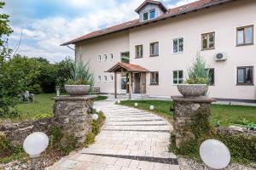
M 170 111 L 172 101 L 161 100 L 125 100 L 120 105 L 135 107 L 138 109 L 150 111 L 149 106 L 154 105 L 154 113 L 168 118 L 172 122 L 173 112 Z M 256 122 L 256 107 L 241 105 L 212 105 L 212 124 L 217 122 L 220 126 L 230 126 L 231 124 L 242 124 L 243 120 Z

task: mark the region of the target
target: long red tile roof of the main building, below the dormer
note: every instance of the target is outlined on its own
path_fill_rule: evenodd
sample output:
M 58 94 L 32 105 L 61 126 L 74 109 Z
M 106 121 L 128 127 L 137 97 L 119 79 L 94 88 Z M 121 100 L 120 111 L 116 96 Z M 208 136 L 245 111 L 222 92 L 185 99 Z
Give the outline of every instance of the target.
M 148 0 L 146 0 L 146 1 L 148 1 Z M 148 20 L 148 21 L 144 21 L 144 22 L 140 22 L 138 19 L 131 20 L 131 21 L 128 21 L 128 22 L 125 22 L 125 23 L 122 23 L 122 24 L 119 24 L 116 26 L 108 27 L 108 28 L 100 30 L 100 31 L 90 32 L 89 34 L 86 34 L 82 37 L 73 39 L 72 41 L 65 42 L 61 45 L 63 46 L 63 45 L 68 45 L 68 44 L 74 44 L 76 42 L 81 42 L 81 41 L 91 39 L 94 37 L 101 37 L 103 35 L 114 33 L 117 31 L 125 31 L 125 30 L 131 29 L 133 27 L 143 26 L 145 24 L 152 23 L 152 22 L 155 22 L 158 20 L 165 20 L 167 18 L 171 18 L 171 17 L 177 16 L 180 14 L 186 14 L 186 13 L 189 13 L 192 11 L 199 10 L 201 8 L 209 8 L 209 7 L 212 7 L 212 6 L 215 6 L 218 4 L 222 4 L 222 3 L 227 3 L 230 1 L 234 1 L 234 0 L 199 0 L 199 1 L 196 1 L 195 3 L 188 3 L 188 4 L 185 4 L 185 5 L 177 7 L 177 8 L 170 8 L 170 9 L 168 9 L 168 12 L 166 12 L 166 14 L 162 14 L 160 17 L 158 17 L 154 20 Z M 154 1 L 149 1 L 149 2 L 154 2 Z

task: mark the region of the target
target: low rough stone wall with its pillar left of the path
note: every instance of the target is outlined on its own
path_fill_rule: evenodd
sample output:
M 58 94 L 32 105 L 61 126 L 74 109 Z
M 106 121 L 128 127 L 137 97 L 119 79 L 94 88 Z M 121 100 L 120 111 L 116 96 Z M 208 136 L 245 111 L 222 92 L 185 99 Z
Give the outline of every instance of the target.
M 30 133 L 47 133 L 49 127 L 57 126 L 61 127 L 64 134 L 73 134 L 81 144 L 90 131 L 91 118 L 87 110 L 92 107 L 94 98 L 95 96 L 55 97 L 54 117 L 32 122 L 1 123 L 0 132 L 4 132 L 14 144 L 23 144 Z

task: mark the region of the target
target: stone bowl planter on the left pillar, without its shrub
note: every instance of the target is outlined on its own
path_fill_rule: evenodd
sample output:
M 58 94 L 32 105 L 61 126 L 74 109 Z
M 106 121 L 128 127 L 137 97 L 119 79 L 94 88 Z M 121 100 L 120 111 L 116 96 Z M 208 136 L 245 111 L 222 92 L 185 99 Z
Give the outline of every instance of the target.
M 80 96 L 88 94 L 90 85 L 65 85 L 64 88 L 68 95 Z

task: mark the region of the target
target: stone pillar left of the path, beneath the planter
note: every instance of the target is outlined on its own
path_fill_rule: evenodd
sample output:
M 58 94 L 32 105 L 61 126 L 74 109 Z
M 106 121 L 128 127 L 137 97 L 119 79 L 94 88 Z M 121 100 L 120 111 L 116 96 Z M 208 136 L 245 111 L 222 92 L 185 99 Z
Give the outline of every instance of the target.
M 73 134 L 82 144 L 86 133 L 90 131 L 90 115 L 88 108 L 92 107 L 96 96 L 57 96 L 55 97 L 55 123 L 65 134 Z

